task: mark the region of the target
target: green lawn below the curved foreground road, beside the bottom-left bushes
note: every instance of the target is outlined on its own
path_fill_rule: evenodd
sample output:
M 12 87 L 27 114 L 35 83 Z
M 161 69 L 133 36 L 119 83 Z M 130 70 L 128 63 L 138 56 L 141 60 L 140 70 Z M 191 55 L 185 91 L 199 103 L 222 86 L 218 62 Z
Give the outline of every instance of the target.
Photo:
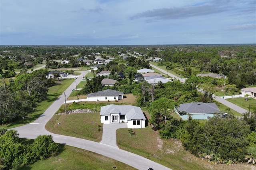
M 134 170 L 135 168 L 117 160 L 72 146 L 60 144 L 60 154 L 39 160 L 20 170 Z

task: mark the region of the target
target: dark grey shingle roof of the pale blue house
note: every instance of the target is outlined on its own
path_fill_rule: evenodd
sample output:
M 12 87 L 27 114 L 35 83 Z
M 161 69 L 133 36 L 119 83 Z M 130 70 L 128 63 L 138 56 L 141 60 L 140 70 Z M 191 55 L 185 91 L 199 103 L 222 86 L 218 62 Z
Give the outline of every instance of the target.
M 179 112 L 185 111 L 190 114 L 204 114 L 219 112 L 218 106 L 215 103 L 183 103 L 177 108 Z

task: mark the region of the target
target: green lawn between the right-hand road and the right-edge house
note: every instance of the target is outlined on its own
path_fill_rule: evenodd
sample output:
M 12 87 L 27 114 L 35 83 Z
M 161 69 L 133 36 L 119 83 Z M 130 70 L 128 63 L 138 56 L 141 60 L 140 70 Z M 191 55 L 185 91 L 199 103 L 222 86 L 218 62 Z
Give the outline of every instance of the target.
M 246 101 L 245 99 L 246 99 L 245 97 L 240 97 L 240 98 L 232 98 L 232 99 L 226 99 L 226 100 L 248 111 L 249 111 L 249 105 L 250 105 L 250 111 L 256 110 L 256 100 L 251 97 L 248 97 L 248 101 Z

